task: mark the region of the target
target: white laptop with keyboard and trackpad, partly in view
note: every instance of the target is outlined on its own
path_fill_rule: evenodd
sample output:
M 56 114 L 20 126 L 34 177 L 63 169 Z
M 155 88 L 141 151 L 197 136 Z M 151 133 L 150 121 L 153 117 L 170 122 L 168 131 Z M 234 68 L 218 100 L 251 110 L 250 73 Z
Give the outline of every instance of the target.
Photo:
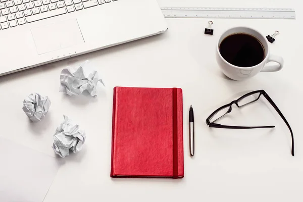
M 165 32 L 156 0 L 0 0 L 0 76 Z

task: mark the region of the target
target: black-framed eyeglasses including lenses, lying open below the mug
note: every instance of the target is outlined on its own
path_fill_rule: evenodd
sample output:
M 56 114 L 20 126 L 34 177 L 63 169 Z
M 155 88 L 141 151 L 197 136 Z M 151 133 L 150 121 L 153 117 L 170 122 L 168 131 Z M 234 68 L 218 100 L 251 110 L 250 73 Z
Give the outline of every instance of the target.
M 233 104 L 235 104 L 238 108 L 241 108 L 248 104 L 256 102 L 261 97 L 261 95 L 263 95 L 268 100 L 268 102 L 275 108 L 275 110 L 278 112 L 278 114 L 281 116 L 281 118 L 287 125 L 287 127 L 290 131 L 290 134 L 291 134 L 291 155 L 294 156 L 294 148 L 293 148 L 294 143 L 293 143 L 292 130 L 291 130 L 288 122 L 286 121 L 285 117 L 281 113 L 281 111 L 278 109 L 276 104 L 273 102 L 273 100 L 270 98 L 270 96 L 264 90 L 256 90 L 256 91 L 249 92 L 249 93 L 241 96 L 240 98 L 233 100 L 231 103 L 220 107 L 207 118 L 206 124 L 212 128 L 229 128 L 229 129 L 274 128 L 275 126 L 227 126 L 227 125 L 221 125 L 221 124 L 215 123 L 216 121 L 221 119 L 224 115 L 231 112 Z

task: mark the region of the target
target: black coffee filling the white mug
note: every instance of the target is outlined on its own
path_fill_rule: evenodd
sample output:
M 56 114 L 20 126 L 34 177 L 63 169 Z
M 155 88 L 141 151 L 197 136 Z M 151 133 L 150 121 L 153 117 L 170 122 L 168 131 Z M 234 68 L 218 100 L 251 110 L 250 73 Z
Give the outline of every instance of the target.
M 237 33 L 227 36 L 219 46 L 221 56 L 238 67 L 251 67 L 264 60 L 264 47 L 254 36 Z

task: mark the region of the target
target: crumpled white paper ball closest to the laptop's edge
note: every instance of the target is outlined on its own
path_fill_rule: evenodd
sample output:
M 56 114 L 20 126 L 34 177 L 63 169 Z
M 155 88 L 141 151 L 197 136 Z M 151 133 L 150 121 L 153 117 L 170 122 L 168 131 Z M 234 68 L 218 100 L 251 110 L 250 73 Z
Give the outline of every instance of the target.
M 68 95 L 79 95 L 84 90 L 96 97 L 97 83 L 104 85 L 102 79 L 98 78 L 98 73 L 91 70 L 88 65 L 89 61 L 85 61 L 80 67 L 67 67 L 63 69 L 60 74 L 60 92 L 65 92 Z M 104 85 L 105 86 L 105 85 Z

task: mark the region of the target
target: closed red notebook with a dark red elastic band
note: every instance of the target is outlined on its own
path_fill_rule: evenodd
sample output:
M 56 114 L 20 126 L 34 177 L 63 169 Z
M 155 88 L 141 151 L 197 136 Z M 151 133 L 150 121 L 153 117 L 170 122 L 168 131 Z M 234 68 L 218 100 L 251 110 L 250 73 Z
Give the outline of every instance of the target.
M 184 177 L 182 89 L 114 88 L 111 177 Z

